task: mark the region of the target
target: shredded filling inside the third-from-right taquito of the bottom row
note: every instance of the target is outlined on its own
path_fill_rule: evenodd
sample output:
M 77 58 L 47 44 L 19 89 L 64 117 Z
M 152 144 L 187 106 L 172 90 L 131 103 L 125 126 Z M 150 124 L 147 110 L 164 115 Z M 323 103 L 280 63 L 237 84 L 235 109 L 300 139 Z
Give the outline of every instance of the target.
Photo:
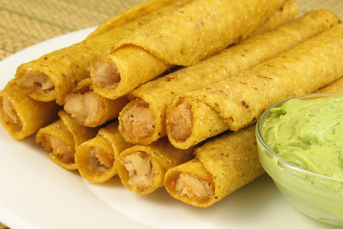
M 103 173 L 113 167 L 114 159 L 114 154 L 109 154 L 103 149 L 93 147 L 88 158 L 88 169 L 95 169 Z

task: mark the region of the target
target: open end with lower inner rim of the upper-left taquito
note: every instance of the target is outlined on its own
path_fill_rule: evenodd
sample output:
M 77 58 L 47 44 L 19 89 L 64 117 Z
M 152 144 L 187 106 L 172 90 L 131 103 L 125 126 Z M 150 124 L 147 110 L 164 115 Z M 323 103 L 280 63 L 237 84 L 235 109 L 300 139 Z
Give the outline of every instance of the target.
M 42 102 L 56 99 L 55 84 L 44 72 L 25 69 L 21 75 L 16 84 L 31 98 Z

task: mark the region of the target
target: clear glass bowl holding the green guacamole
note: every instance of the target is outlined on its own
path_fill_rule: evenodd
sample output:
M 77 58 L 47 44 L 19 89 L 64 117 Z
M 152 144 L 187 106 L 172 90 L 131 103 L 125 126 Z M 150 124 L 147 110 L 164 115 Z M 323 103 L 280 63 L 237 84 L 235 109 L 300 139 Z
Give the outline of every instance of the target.
M 330 96 L 343 96 L 343 93 L 317 93 L 294 98 Z M 343 180 L 321 176 L 287 162 L 273 152 L 263 138 L 263 122 L 270 116 L 270 110 L 282 106 L 287 100 L 270 107 L 257 121 L 256 138 L 260 162 L 277 188 L 298 210 L 321 222 L 343 226 Z

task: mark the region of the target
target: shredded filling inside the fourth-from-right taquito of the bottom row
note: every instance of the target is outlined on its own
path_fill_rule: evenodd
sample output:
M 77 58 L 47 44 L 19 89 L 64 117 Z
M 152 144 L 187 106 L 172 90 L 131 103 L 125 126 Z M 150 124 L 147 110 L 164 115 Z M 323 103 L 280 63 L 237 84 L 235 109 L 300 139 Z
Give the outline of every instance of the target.
M 45 136 L 46 141 L 43 141 L 43 146 L 52 150 L 52 153 L 59 157 L 65 163 L 74 163 L 74 153 L 75 150 L 72 146 L 67 145 L 63 141 L 52 135 Z

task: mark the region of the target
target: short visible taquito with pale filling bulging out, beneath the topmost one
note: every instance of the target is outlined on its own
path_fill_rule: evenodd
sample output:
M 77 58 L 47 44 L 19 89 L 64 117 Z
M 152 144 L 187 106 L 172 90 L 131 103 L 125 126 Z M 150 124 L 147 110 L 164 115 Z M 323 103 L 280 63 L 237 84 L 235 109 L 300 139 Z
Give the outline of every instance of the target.
M 86 78 L 66 96 L 64 110 L 80 124 L 95 127 L 118 118 L 129 102 L 127 96 L 108 99 L 91 90 L 91 78 Z

